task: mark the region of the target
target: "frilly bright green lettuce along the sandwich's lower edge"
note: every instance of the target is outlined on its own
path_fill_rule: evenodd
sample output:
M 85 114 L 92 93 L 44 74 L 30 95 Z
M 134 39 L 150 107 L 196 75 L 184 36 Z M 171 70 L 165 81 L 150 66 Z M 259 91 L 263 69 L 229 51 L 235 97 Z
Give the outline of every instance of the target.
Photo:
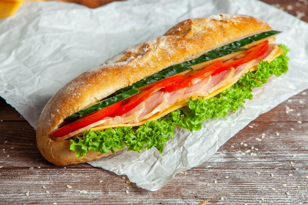
M 116 153 L 117 149 L 123 148 L 140 152 L 156 147 L 162 153 L 165 143 L 174 137 L 176 126 L 190 132 L 200 130 L 202 121 L 226 117 L 229 112 L 244 108 L 246 100 L 253 97 L 253 88 L 261 87 L 273 75 L 286 73 L 289 60 L 286 54 L 289 49 L 285 45 L 279 46 L 283 49 L 282 55 L 270 63 L 259 62 L 256 71 L 244 74 L 232 87 L 210 99 L 190 99 L 187 101 L 188 106 L 138 127 L 117 127 L 95 132 L 89 130 L 82 137 L 70 139 L 70 149 L 77 152 L 76 157 L 84 157 L 88 150 Z

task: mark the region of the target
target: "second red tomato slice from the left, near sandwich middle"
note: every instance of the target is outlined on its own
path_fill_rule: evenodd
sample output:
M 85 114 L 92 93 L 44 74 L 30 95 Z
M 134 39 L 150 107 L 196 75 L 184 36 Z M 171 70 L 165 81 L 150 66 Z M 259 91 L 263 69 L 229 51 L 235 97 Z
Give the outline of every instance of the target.
M 123 114 L 131 111 L 137 105 L 145 101 L 149 96 L 151 96 L 154 92 L 160 90 L 161 88 L 165 88 L 166 86 L 173 85 L 176 83 L 180 83 L 184 81 L 183 75 L 174 75 L 163 80 L 160 80 L 154 86 L 150 88 L 146 88 L 142 90 L 140 93 L 128 98 L 126 101 L 123 102 L 123 105 L 118 109 L 116 113 L 112 115 L 115 116 L 122 116 Z

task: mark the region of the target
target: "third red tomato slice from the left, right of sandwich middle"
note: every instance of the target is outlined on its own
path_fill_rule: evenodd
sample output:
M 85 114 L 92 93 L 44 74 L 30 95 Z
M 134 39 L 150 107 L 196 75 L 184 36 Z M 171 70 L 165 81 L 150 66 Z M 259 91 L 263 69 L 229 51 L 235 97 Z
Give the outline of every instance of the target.
M 212 64 L 208 65 L 207 67 L 194 71 L 190 74 L 187 74 L 184 76 L 185 80 L 183 82 L 175 83 L 170 86 L 166 86 L 164 90 L 167 92 L 172 92 L 177 89 L 186 88 L 189 86 L 194 85 L 194 82 L 199 82 L 210 75 L 212 75 L 217 69 L 221 68 L 223 66 L 223 62 L 221 60 L 218 60 L 216 62 L 213 62 Z

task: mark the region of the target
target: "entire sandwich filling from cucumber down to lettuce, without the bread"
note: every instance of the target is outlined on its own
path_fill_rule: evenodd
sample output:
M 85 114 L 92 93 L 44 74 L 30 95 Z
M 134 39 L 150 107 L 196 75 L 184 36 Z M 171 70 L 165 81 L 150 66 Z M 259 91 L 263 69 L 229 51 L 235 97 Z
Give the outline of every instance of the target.
M 271 43 L 277 33 L 250 36 L 164 69 L 68 117 L 51 137 L 69 139 L 77 157 L 88 150 L 153 146 L 162 152 L 176 126 L 200 130 L 202 121 L 244 107 L 252 88 L 287 72 L 288 49 Z

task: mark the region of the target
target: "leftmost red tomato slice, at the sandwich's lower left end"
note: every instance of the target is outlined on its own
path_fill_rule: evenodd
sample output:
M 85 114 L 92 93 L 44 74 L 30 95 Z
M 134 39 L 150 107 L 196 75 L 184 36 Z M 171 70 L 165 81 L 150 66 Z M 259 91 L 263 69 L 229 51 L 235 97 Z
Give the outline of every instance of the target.
M 64 135 L 67 135 L 71 132 L 74 132 L 82 127 L 86 127 L 98 120 L 103 119 L 104 117 L 108 117 L 111 114 L 115 113 L 119 107 L 121 106 L 123 100 L 120 102 L 117 102 L 115 104 L 112 104 L 106 108 L 103 108 L 101 110 L 98 110 L 86 117 L 82 117 L 76 121 L 73 121 L 67 125 L 64 125 L 63 127 L 55 130 L 53 133 L 51 133 L 51 136 L 57 138 L 57 137 L 63 137 Z

